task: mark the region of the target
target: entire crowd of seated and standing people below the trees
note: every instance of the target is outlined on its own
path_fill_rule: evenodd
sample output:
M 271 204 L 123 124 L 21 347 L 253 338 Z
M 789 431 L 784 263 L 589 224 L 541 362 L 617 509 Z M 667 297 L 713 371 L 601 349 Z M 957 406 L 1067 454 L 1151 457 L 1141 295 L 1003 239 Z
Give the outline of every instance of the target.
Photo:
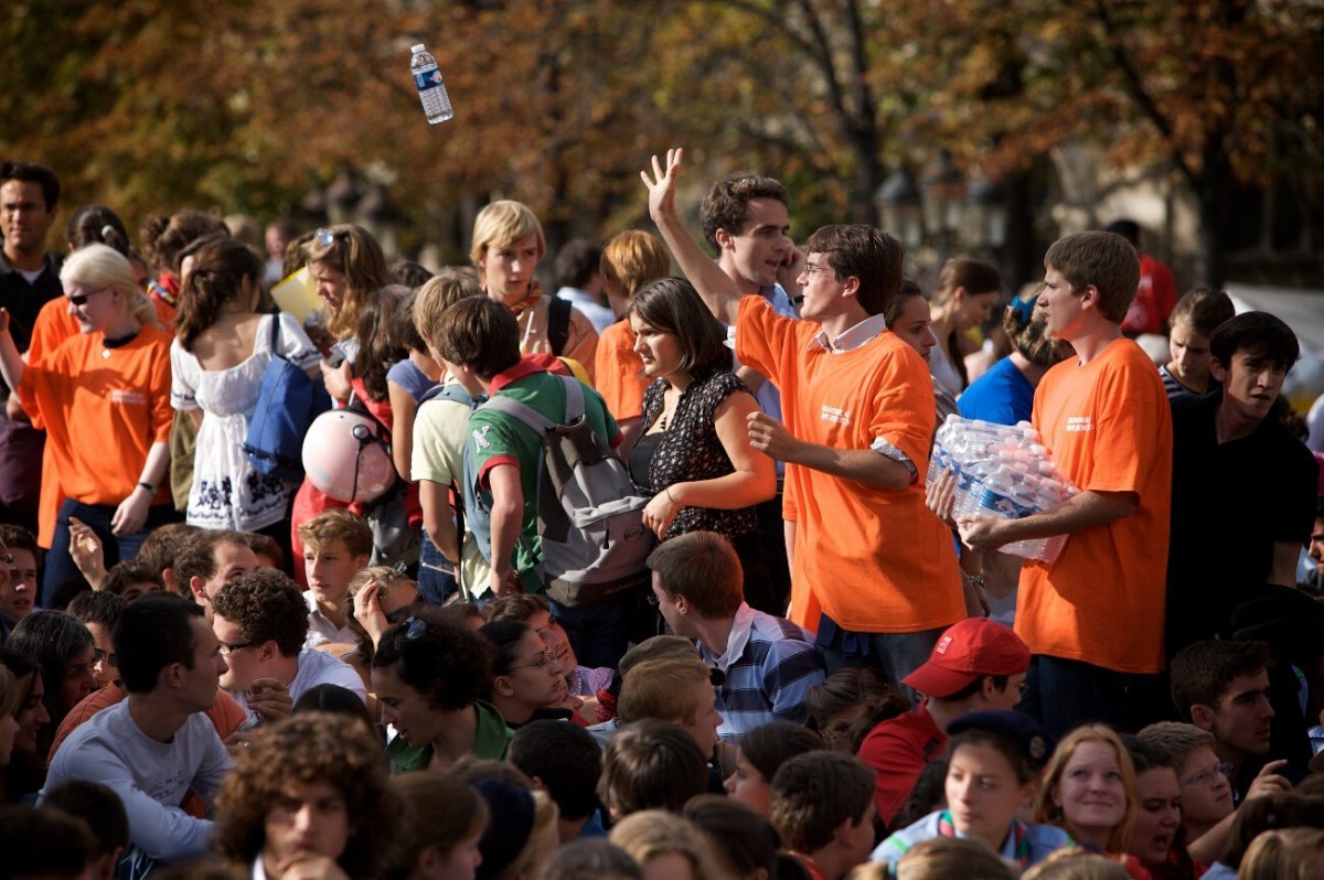
M 437 273 L 102 205 L 61 257 L 57 176 L 0 165 L 0 877 L 1321 876 L 1287 324 L 1129 221 L 925 294 L 763 175 L 696 236 L 682 175 L 549 292 L 515 201 Z M 254 447 L 274 376 L 326 398 L 302 462 Z M 949 418 L 1068 500 L 957 504 Z M 628 527 L 561 515 L 600 480 Z

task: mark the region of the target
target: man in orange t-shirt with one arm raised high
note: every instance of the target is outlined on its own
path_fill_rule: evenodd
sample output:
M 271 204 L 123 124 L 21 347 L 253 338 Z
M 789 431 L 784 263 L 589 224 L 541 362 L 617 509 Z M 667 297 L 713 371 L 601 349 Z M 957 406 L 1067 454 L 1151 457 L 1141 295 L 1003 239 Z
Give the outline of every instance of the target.
M 753 449 L 786 462 L 796 499 L 790 619 L 817 633 L 829 666 L 876 666 L 900 682 L 965 617 L 956 550 L 919 476 L 935 418 L 928 367 L 882 316 L 902 246 L 873 226 L 824 226 L 797 279 L 802 320 L 790 320 L 740 298 L 681 225 L 679 165 L 675 151 L 645 176 L 653 220 L 706 299 L 739 302 L 736 357 L 782 394 L 785 423 L 755 413 L 748 431 Z

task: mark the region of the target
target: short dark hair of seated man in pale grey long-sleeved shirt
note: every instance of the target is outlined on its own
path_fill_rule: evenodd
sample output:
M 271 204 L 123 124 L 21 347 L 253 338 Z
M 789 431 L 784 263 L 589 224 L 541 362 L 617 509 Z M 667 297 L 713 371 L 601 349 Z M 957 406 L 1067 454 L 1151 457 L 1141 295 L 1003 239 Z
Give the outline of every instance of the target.
M 111 635 L 124 691 L 150 693 L 172 663 L 193 668 L 195 617 L 201 606 L 177 595 L 144 595 L 124 609 Z

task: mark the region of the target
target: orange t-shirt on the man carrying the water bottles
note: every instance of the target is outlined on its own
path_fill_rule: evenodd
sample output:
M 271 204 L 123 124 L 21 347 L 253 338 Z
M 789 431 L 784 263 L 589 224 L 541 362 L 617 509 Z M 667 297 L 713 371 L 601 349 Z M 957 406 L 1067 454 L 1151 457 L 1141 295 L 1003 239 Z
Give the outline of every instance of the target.
M 1172 412 L 1149 356 L 1128 339 L 1050 369 L 1034 427 L 1080 490 L 1136 492 L 1131 516 L 1076 532 L 1053 565 L 1021 569 L 1016 631 L 1034 654 L 1117 672 L 1162 668 L 1172 504 Z

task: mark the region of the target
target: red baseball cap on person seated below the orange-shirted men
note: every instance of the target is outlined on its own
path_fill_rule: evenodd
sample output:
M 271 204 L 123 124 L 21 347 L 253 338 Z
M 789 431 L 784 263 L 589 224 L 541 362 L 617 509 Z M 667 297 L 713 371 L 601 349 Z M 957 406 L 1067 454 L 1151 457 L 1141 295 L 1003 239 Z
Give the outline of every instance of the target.
M 941 699 L 985 675 L 1019 675 L 1029 668 L 1030 648 L 1012 627 L 970 617 L 947 627 L 924 666 L 902 684 Z

